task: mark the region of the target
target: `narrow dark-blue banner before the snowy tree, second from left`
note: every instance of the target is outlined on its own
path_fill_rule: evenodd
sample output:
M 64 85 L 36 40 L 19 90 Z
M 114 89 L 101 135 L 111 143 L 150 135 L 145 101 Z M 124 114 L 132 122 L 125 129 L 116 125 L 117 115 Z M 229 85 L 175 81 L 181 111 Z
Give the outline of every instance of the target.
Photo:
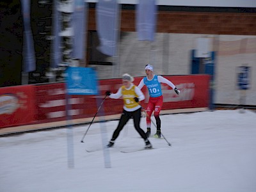
M 53 36 L 54 38 L 52 39 L 52 45 L 51 45 L 51 68 L 58 68 L 59 64 L 61 63 L 61 37 L 59 35 L 61 28 L 60 28 L 60 12 L 58 11 L 58 6 L 59 6 L 59 1 L 56 0 L 54 1 L 54 4 L 52 6 L 53 8 L 53 14 L 52 14 L 52 28 L 53 28 Z

